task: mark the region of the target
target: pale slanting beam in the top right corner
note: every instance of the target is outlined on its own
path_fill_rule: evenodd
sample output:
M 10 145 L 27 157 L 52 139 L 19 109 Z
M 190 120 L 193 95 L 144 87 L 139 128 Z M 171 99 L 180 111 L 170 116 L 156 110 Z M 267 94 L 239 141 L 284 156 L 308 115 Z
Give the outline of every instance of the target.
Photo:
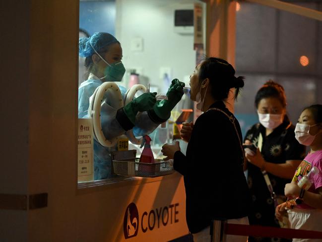
M 322 21 L 322 12 L 279 0 L 247 0 Z

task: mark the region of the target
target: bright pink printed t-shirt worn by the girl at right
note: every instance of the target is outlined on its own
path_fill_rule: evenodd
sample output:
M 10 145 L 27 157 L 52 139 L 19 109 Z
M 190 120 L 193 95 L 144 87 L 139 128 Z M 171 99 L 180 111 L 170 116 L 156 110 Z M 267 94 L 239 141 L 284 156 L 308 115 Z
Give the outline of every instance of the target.
M 295 174 L 293 176 L 293 181 L 299 182 L 302 176 L 309 173 L 312 167 L 316 166 L 320 172 L 316 175 L 311 176 L 312 186 L 309 188 L 310 192 L 319 193 L 317 189 L 322 187 L 322 150 L 316 151 L 315 153 L 309 153 L 301 164 L 297 167 Z M 299 209 L 313 209 L 305 202 L 296 206 Z

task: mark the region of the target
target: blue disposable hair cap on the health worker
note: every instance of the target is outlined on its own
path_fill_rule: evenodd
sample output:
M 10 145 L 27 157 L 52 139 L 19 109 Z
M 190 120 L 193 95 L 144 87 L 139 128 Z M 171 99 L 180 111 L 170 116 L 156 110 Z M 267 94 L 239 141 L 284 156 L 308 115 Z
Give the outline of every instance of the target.
M 79 38 L 78 54 L 81 57 L 92 56 L 95 53 L 94 49 L 99 52 L 103 47 L 113 43 L 119 43 L 119 41 L 112 34 L 96 32 L 89 38 Z

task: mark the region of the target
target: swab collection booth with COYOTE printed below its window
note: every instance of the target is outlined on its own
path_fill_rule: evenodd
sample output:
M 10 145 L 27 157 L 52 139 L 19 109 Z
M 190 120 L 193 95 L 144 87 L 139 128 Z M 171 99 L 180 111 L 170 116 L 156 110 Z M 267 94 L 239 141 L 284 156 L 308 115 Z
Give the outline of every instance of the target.
M 321 18 L 281 1 L 250 2 Z M 109 92 L 115 109 L 147 90 L 162 99 L 172 79 L 189 86 L 189 76 L 205 55 L 235 64 L 240 3 L 11 0 L 1 5 L 0 241 L 187 241 L 182 175 L 171 161 L 149 167 L 152 173 L 138 172 L 142 137 L 129 130 L 106 139 L 101 97 Z M 121 82 L 96 89 L 88 110 L 92 115 L 83 119 L 78 118 L 77 96 L 88 75 L 78 40 L 95 32 L 109 32 L 120 41 L 126 72 Z M 126 88 L 125 97 L 118 85 Z M 200 115 L 189 97 L 185 91 L 170 119 L 149 133 L 154 158 L 161 163 L 162 145 L 180 139 L 182 121 Z M 117 147 L 105 179 L 94 179 L 94 139 Z M 180 143 L 185 151 L 185 142 Z M 120 171 L 121 165 L 126 167 Z

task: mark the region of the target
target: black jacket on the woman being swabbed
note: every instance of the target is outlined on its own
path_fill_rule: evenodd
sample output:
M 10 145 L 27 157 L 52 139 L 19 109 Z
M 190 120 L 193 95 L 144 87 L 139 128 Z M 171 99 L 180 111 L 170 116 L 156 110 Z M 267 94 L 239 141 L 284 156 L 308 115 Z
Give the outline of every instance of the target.
M 222 101 L 212 107 L 233 115 Z M 242 141 L 237 119 L 234 123 Z M 186 218 L 193 234 L 216 218 L 248 216 L 251 197 L 243 171 L 243 152 L 229 118 L 220 111 L 208 110 L 194 124 L 187 156 L 175 153 L 174 169 L 184 175 Z

